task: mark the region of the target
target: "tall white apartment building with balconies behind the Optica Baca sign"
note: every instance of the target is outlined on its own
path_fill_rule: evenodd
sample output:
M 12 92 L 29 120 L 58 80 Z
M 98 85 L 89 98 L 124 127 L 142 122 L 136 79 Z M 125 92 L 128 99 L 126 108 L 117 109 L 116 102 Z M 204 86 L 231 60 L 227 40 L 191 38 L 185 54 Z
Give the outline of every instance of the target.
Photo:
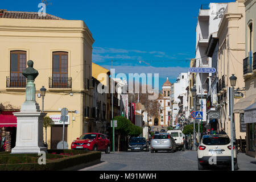
M 212 67 L 212 57 L 208 57 L 205 52 L 207 51 L 210 35 L 218 31 L 218 24 L 220 24 L 226 6 L 227 3 L 210 3 L 208 7 L 201 6 L 199 10 L 196 26 L 195 61 L 197 68 Z M 203 101 L 203 107 L 200 107 L 200 110 L 203 111 L 204 122 L 207 121 L 207 86 L 211 87 L 210 77 L 212 77 L 212 73 L 196 73 L 196 104 L 201 104 L 201 100 Z M 207 85 L 206 82 L 209 84 Z

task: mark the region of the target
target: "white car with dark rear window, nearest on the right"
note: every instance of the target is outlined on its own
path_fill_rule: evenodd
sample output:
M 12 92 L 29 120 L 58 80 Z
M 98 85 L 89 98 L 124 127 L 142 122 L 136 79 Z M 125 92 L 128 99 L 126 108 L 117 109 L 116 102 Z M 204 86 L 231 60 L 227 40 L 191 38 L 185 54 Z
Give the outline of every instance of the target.
M 199 170 L 209 165 L 231 166 L 231 141 L 228 135 L 203 135 L 200 144 L 196 143 L 196 146 Z M 234 169 L 238 169 L 236 150 L 234 150 Z

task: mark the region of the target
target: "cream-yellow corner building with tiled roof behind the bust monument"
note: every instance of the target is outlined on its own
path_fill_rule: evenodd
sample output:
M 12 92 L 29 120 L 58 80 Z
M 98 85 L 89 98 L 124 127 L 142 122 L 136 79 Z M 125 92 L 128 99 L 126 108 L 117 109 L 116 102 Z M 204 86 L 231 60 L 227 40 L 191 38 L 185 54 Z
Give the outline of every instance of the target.
M 11 15 L 10 15 L 11 14 Z M 31 19 L 33 18 L 33 19 Z M 67 107 L 69 121 L 65 140 L 69 148 L 85 131 L 85 108 L 91 105 L 92 44 L 94 39 L 82 20 L 64 20 L 37 13 L 6 11 L 0 16 L 0 105 L 2 110 L 19 110 L 25 101 L 27 61 L 34 61 L 39 76 L 36 94 L 44 86 L 44 112 L 55 125 L 47 129 L 48 148 L 62 140 L 58 121 L 60 109 Z M 42 98 L 36 97 L 40 109 Z M 45 138 L 45 131 L 44 131 Z

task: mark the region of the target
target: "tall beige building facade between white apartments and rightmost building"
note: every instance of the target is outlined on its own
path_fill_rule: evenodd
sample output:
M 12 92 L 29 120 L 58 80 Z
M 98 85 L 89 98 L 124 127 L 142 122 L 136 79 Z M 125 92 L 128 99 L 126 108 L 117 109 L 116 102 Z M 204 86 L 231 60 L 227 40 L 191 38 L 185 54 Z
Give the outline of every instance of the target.
M 243 63 L 245 57 L 245 5 L 244 0 L 228 3 L 218 28 L 218 101 L 220 101 L 219 130 L 224 127 L 230 136 L 229 118 L 229 77 L 237 77 L 236 88 L 243 88 Z M 234 105 L 239 101 L 234 98 Z M 236 138 L 245 139 L 245 132 L 240 132 L 240 115 L 234 114 Z

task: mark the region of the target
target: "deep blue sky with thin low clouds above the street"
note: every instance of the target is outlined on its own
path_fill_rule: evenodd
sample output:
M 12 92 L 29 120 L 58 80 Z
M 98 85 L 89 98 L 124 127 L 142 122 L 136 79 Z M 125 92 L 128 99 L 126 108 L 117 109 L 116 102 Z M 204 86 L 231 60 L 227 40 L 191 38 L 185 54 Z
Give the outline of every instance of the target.
M 116 73 L 159 74 L 159 89 L 175 82 L 195 58 L 201 5 L 230 0 L 51 0 L 46 13 L 84 20 L 93 39 L 92 61 Z M 38 12 L 40 0 L 1 1 L 0 9 Z M 154 81 L 153 81 L 154 82 Z

